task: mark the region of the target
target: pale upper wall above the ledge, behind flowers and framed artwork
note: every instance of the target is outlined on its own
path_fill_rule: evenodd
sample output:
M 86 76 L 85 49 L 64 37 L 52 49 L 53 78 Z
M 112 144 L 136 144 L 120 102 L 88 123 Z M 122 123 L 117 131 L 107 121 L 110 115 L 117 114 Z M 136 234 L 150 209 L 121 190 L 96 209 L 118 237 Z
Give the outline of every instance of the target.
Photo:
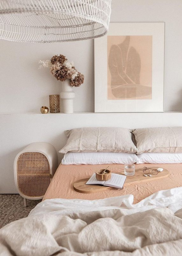
M 112 0 L 111 22 L 165 22 L 165 111 L 182 105 L 182 0 Z M 0 41 L 0 112 L 39 112 L 61 83 L 40 59 L 62 53 L 74 60 L 85 82 L 74 88 L 75 111 L 94 111 L 93 41 L 24 44 Z

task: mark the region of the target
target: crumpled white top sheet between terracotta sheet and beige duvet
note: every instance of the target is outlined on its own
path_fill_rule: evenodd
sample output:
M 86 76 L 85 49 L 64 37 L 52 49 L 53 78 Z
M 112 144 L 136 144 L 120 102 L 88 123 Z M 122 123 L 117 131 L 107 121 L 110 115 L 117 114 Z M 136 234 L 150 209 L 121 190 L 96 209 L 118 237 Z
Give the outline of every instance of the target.
M 126 213 L 147 211 L 156 207 L 168 207 L 173 212 L 182 208 L 182 187 L 161 190 L 134 204 L 133 195 L 109 197 L 99 200 L 47 199 L 39 203 L 29 216 L 39 214 L 67 215 L 74 212 L 91 212 L 122 208 Z

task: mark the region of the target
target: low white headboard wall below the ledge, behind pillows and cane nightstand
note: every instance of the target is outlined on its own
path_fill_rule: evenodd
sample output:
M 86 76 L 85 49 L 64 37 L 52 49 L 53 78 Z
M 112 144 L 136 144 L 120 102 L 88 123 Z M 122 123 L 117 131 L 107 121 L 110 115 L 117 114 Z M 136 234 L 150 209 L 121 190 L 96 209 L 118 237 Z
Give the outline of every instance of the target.
M 66 143 L 67 129 L 182 126 L 182 113 L 1 114 L 0 124 L 0 193 L 16 193 L 13 161 L 32 142 L 49 142 L 58 152 Z M 63 154 L 58 157 L 60 163 Z

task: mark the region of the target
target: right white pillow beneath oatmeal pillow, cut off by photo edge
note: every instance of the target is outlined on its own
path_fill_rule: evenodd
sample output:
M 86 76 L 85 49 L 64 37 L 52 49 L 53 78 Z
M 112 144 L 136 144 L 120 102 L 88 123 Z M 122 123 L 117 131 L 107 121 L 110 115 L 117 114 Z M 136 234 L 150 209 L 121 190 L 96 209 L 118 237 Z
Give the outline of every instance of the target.
M 143 153 L 137 163 L 182 163 L 182 153 Z

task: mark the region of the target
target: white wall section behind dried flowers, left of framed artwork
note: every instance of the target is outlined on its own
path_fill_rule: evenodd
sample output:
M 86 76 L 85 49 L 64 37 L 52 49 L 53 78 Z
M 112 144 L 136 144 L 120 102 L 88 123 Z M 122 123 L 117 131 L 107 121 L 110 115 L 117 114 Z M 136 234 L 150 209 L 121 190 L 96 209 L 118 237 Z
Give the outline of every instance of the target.
M 85 75 L 85 82 L 74 87 L 75 111 L 94 111 L 93 41 L 24 44 L 0 41 L 0 112 L 39 113 L 49 107 L 49 94 L 61 92 L 61 82 L 48 68 L 39 69 L 39 60 L 64 54 L 74 60 L 75 67 Z

